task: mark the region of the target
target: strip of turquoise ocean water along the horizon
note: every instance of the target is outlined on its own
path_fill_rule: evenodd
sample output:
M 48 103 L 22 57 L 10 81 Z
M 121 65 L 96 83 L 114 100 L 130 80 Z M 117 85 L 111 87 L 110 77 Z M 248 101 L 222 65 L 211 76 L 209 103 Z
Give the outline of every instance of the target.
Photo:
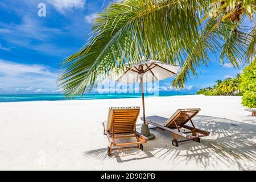
M 182 96 L 191 95 L 193 93 L 159 93 L 158 96 L 154 94 L 145 94 L 145 97 L 167 97 L 167 96 Z M 0 95 L 0 102 L 25 102 L 25 101 L 63 101 L 63 100 L 98 100 L 110 98 L 139 98 L 141 94 L 85 94 L 82 97 L 65 98 L 63 95 Z

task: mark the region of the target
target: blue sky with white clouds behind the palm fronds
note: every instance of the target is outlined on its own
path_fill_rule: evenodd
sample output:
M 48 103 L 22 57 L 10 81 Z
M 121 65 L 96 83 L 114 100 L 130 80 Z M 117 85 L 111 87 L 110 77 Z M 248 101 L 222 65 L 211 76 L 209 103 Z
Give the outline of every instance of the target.
M 46 4 L 46 17 L 38 16 L 41 2 Z M 59 93 L 60 61 L 83 46 L 95 14 L 108 4 L 103 0 L 1 0 L 0 94 Z M 220 65 L 214 55 L 210 59 L 183 91 L 193 93 L 241 72 L 229 63 Z M 172 90 L 171 80 L 160 81 L 160 90 Z

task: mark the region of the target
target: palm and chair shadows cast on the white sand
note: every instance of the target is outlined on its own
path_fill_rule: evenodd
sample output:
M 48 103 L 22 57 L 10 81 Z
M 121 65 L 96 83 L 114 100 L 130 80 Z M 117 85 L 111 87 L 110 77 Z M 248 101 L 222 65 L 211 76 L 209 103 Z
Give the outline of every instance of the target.
M 256 125 L 206 115 L 197 115 L 193 121 L 199 129 L 210 132 L 209 137 L 201 139 L 201 143 L 184 142 L 179 147 L 174 147 L 170 133 L 152 129 L 156 139 L 144 145 L 144 152 L 115 152 L 111 158 L 115 158 L 118 163 L 154 157 L 173 164 L 188 164 L 193 160 L 205 169 L 223 165 L 236 166 L 241 170 L 256 169 Z M 84 156 L 98 160 L 108 159 L 106 148 L 86 151 Z M 129 159 L 122 160 L 127 156 Z

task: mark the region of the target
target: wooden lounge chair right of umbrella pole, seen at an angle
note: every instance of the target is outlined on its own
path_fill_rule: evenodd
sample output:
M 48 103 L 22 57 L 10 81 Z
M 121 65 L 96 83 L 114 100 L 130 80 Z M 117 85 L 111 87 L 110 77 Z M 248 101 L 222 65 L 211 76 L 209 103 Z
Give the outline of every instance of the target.
M 153 115 L 146 117 L 146 122 L 156 126 L 159 129 L 171 132 L 174 135 L 172 145 L 178 147 L 180 142 L 185 142 L 188 140 L 200 142 L 200 137 L 209 135 L 209 132 L 207 131 L 196 129 L 194 123 L 192 122 L 192 118 L 199 113 L 199 111 L 200 109 L 178 109 L 169 119 Z M 191 122 L 192 127 L 186 125 L 186 123 L 189 121 Z M 178 136 L 185 138 L 185 140 L 178 141 Z

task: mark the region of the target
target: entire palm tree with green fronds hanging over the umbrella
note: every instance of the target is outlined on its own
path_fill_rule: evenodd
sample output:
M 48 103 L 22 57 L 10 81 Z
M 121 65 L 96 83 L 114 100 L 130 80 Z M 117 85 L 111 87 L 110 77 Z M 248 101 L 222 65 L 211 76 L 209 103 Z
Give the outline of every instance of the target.
M 110 71 L 141 57 L 180 64 L 173 86 L 183 87 L 209 53 L 234 67 L 255 55 L 256 28 L 245 26 L 255 15 L 254 0 L 122 0 L 98 14 L 92 36 L 62 61 L 59 86 L 67 96 L 96 86 Z M 255 22 L 254 22 L 255 24 Z M 120 69 L 117 69 L 120 68 Z

